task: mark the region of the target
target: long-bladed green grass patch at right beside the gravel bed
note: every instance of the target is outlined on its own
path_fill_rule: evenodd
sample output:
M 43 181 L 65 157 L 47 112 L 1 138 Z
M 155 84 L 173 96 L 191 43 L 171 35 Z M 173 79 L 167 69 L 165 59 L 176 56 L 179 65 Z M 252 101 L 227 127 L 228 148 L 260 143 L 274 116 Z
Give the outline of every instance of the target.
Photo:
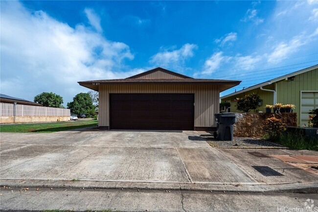
M 305 137 L 296 133 L 282 133 L 279 136 L 269 140 L 269 137 L 265 137 L 266 140 L 287 146 L 290 149 L 307 149 L 307 150 L 318 150 L 318 140 L 314 138 Z

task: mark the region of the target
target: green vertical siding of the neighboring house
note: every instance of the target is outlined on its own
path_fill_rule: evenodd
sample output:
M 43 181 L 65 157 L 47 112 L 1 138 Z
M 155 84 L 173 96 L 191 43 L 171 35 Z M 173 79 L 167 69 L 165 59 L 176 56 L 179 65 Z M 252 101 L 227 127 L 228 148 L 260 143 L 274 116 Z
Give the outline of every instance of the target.
M 293 111 L 297 113 L 297 124 L 300 125 L 300 93 L 301 91 L 318 92 L 318 69 L 295 75 L 293 81 L 281 80 L 271 85 L 264 86 L 263 88 L 274 90 L 275 86 L 277 102 L 282 104 L 295 104 L 296 107 Z M 273 104 L 273 92 L 262 91 L 260 88 L 242 94 L 232 95 L 222 100 L 231 102 L 231 112 L 239 112 L 236 110 L 236 102 L 234 99 L 250 93 L 257 93 L 263 99 L 263 105 L 258 108 L 258 111 L 265 112 L 265 105 Z

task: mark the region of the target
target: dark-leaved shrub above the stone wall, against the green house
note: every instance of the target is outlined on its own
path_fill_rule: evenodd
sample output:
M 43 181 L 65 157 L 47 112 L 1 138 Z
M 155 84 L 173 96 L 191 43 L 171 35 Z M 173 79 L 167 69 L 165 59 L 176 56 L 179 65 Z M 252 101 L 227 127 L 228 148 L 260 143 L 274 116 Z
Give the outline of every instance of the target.
M 247 94 L 242 98 L 236 98 L 237 104 L 236 108 L 239 111 L 249 112 L 250 110 L 255 110 L 258 108 L 258 103 L 262 101 L 258 94 Z

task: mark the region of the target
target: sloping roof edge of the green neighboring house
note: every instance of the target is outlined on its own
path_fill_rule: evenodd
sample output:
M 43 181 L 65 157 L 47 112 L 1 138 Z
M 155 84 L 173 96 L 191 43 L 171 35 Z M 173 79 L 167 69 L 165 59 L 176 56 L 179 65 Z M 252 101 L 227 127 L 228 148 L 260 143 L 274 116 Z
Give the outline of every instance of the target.
M 266 82 L 262 82 L 262 83 L 259 83 L 257 85 L 254 85 L 254 86 L 250 86 L 246 89 L 243 89 L 241 91 L 238 91 L 238 92 L 234 92 L 232 94 L 227 94 L 225 96 L 222 96 L 221 99 L 223 98 L 227 98 L 229 96 L 232 96 L 232 95 L 236 95 L 236 94 L 242 94 L 244 92 L 247 92 L 247 91 L 251 91 L 251 90 L 254 90 L 254 89 L 257 89 L 257 88 L 260 88 L 260 87 L 263 87 L 263 86 L 267 86 L 267 85 L 270 85 L 272 83 L 275 83 L 275 82 L 278 82 L 278 81 L 281 81 L 281 80 L 287 80 L 289 77 L 293 77 L 295 75 L 299 75 L 299 74 L 302 74 L 302 73 L 305 73 L 307 71 L 312 71 L 314 69 L 318 69 L 318 64 L 315 65 L 315 66 L 311 66 L 311 67 L 308 67 L 306 69 L 302 69 L 302 70 L 299 70 L 299 71 L 295 71 L 295 72 L 292 72 L 292 73 L 289 73 L 289 74 L 286 74 L 286 75 L 283 75 L 283 76 L 280 76 L 280 77 L 277 77 L 277 78 L 274 78 L 274 79 L 271 79 L 271 80 L 268 80 Z

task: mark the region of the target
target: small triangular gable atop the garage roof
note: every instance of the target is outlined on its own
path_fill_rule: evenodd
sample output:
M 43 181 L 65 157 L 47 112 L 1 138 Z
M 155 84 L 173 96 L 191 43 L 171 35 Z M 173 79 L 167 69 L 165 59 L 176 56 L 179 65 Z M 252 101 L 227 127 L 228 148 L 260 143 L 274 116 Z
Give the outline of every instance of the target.
M 160 74 L 160 73 L 166 73 L 166 74 Z M 158 74 L 156 74 L 158 73 Z M 166 69 L 163 69 L 161 67 L 158 67 L 156 69 L 152 69 L 152 70 L 149 70 L 149 71 L 145 71 L 145 72 L 142 72 L 142 73 L 138 73 L 134 76 L 130 76 L 130 77 L 127 77 L 126 79 L 137 79 L 137 78 L 147 78 L 147 79 L 158 79 L 160 76 L 160 79 L 173 79 L 173 78 L 183 78 L 183 79 L 193 79 L 192 77 L 189 77 L 189 76 L 185 76 L 185 75 L 182 75 L 180 73 L 176 73 L 174 71 L 169 71 L 169 70 L 166 70 Z

